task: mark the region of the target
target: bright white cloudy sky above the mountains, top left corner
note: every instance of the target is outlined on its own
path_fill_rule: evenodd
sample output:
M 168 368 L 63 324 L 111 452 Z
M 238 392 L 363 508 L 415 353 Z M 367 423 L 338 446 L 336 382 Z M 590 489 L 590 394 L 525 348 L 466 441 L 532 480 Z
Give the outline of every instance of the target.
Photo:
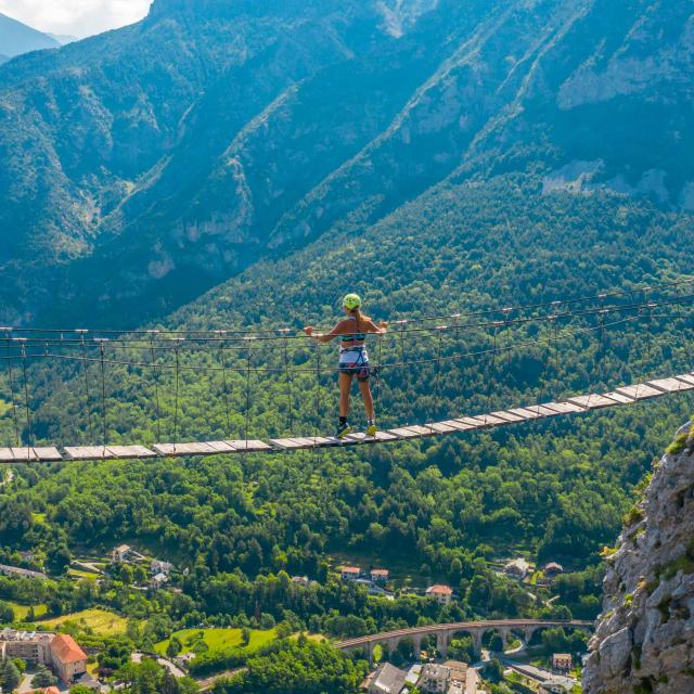
M 85 38 L 144 17 L 152 0 L 0 0 L 0 12 L 35 29 Z

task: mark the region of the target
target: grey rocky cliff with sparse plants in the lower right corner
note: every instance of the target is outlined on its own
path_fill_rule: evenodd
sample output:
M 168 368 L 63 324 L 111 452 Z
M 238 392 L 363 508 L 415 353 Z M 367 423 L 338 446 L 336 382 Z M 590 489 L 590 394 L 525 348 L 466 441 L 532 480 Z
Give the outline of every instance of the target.
M 587 694 L 694 692 L 694 428 L 678 433 L 608 557 Z

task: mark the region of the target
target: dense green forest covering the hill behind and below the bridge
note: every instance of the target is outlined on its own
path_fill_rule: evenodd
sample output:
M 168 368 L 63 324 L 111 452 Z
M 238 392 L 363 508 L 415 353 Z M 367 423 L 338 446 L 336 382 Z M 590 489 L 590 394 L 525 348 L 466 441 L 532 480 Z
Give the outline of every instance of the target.
M 538 187 L 535 177 L 510 176 L 484 185 L 447 184 L 358 235 L 359 219 L 352 219 L 330 237 L 261 264 L 166 321 L 143 326 L 189 334 L 291 329 L 288 337 L 271 343 L 180 343 L 178 398 L 174 351 L 164 337 L 152 349 L 113 339 L 104 348 L 103 372 L 100 347 L 91 342 L 77 354 L 93 362 L 28 359 L 33 440 L 99 444 L 104 424 L 111 444 L 151 445 L 175 434 L 178 440 L 244 438 L 246 427 L 250 438 L 330 434 L 334 347 L 317 352 L 295 335 L 307 323 L 329 326 L 347 290 L 362 294 L 370 316 L 391 321 L 381 346 L 372 345 L 372 358 L 383 363 L 374 383 L 382 427 L 689 371 L 686 299 L 638 320 L 620 320 L 628 313 L 617 311 L 604 331 L 594 312 L 558 326 L 527 320 L 467 329 L 461 321 L 459 331 L 434 330 L 440 319 L 427 317 L 555 298 L 567 307 L 613 288 L 633 290 L 620 300 L 639 303 L 650 296 L 644 287 L 690 279 L 689 244 L 673 243 L 691 234 L 682 216 L 607 193 L 542 196 Z M 680 291 L 687 292 L 686 285 Z M 542 318 L 540 309 L 525 316 Z M 403 318 L 420 321 L 421 330 L 404 337 L 414 363 L 390 369 L 403 347 L 393 321 Z M 518 346 L 490 357 L 487 350 L 499 344 Z M 463 351 L 485 354 L 457 357 Z M 14 436 L 12 402 L 23 441 L 29 435 L 22 359 L 10 354 L 14 388 L 5 369 L 0 390 L 8 403 L 0 416 L 7 445 Z M 52 615 L 105 605 L 132 620 L 147 619 L 146 629 L 130 633 L 145 644 L 198 622 L 257 627 L 265 620 L 340 638 L 467 618 L 592 619 L 600 612 L 600 552 L 614 541 L 637 486 L 691 404 L 681 395 L 496 433 L 352 450 L 16 467 L 0 496 L 0 561 L 33 551 L 60 576 L 73 556 L 128 541 L 172 561 L 182 592 L 134 594 L 131 576 L 99 588 L 0 579 L 0 599 L 44 602 Z M 359 425 L 358 398 L 354 411 Z M 494 570 L 500 557 L 518 553 L 565 564 L 551 607 Z M 440 607 L 414 593 L 394 601 L 369 596 L 335 577 L 339 556 L 400 567 L 410 577 L 399 581 L 394 573 L 401 588 L 448 583 L 457 600 Z M 294 575 L 316 582 L 296 586 Z M 321 655 L 310 648 L 300 657 Z M 280 650 L 258 657 L 282 669 L 298 656 Z M 202 654 L 195 668 L 219 671 L 246 658 Z M 335 691 L 350 691 L 350 667 L 327 659 L 326 678 L 343 682 Z M 250 668 L 222 691 L 256 691 L 264 677 Z M 313 691 L 301 686 L 307 689 L 296 691 Z

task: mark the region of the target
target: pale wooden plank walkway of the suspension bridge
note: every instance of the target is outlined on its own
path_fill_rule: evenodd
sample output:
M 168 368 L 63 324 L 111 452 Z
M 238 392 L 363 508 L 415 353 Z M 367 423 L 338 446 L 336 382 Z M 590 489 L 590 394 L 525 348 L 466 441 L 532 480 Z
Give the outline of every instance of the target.
M 151 449 L 145 446 L 66 446 L 63 448 L 22 447 L 0 448 L 0 464 L 20 465 L 33 463 L 56 463 L 67 461 L 128 460 L 151 458 L 192 458 L 200 455 L 224 455 L 233 453 L 272 453 L 279 451 L 310 450 L 368 444 L 387 444 L 446 436 L 461 432 L 497 428 L 540 419 L 580 414 L 603 408 L 629 406 L 665 395 L 694 390 L 694 372 L 655 378 L 630 386 L 621 386 L 609 393 L 590 393 L 567 398 L 562 402 L 544 402 L 510 410 L 500 410 L 488 414 L 463 416 L 430 424 L 412 424 L 385 432 L 375 436 L 363 433 L 350 434 L 344 439 L 333 436 L 293 436 L 260 440 L 191 441 L 180 444 L 156 444 Z

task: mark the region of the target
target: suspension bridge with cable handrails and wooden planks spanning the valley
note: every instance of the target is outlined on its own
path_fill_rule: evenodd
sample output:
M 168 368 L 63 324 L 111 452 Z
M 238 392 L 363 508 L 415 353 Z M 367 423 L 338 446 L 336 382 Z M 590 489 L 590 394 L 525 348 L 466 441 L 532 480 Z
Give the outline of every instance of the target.
M 313 430 L 305 430 L 303 435 L 252 435 L 252 376 L 258 382 L 256 389 L 282 385 L 282 393 L 278 391 L 273 397 L 283 398 L 287 428 L 294 425 L 296 390 L 300 397 L 308 380 L 314 380 L 322 387 L 322 390 L 316 390 L 317 412 L 324 404 L 326 388 L 334 388 L 336 394 L 336 364 L 325 365 L 320 345 L 288 327 L 129 333 L 0 327 L 0 344 L 4 343 L 5 348 L 0 357 L 0 363 L 4 365 L 0 375 L 4 377 L 4 398 L 9 401 L 0 423 L 4 419 L 5 429 L 14 439 L 0 447 L 0 463 L 206 457 L 383 445 L 516 426 L 685 394 L 694 390 L 694 371 L 691 370 L 694 364 L 690 339 L 685 335 L 692 330 L 692 318 L 685 309 L 694 300 L 693 283 L 694 280 L 681 280 L 532 305 L 396 320 L 386 335 L 373 337 L 376 340 L 372 358 L 376 396 L 391 374 L 428 365 L 433 370 L 429 395 L 440 409 L 441 380 L 449 377 L 442 373 L 444 367 L 481 359 L 487 368 L 485 381 L 489 393 L 475 393 L 474 398 L 489 407 L 478 406 L 478 410 L 442 419 L 424 411 L 419 423 L 410 423 L 408 416 L 406 422 L 384 426 L 375 436 L 354 433 L 343 439 L 323 436 L 325 423 L 320 417 L 313 423 Z M 673 371 L 669 374 L 647 374 L 646 370 L 653 368 L 648 360 L 654 340 L 663 334 L 664 324 L 676 331 L 669 333 L 669 339 L 673 334 L 680 336 L 682 363 L 676 364 L 670 359 L 668 365 Z M 545 397 L 544 390 L 551 385 L 564 388 L 558 382 L 562 345 L 579 352 L 587 351 L 592 345 L 593 371 L 601 383 L 605 383 L 607 377 L 597 371 L 604 369 L 609 331 L 630 325 L 643 326 L 640 363 L 631 369 L 631 373 L 640 372 L 640 377 L 612 387 Z M 390 343 L 386 345 L 386 340 Z M 413 350 L 412 340 L 428 346 Z M 628 342 L 631 349 L 639 340 L 630 335 Z M 461 344 L 466 348 L 461 349 Z M 537 378 L 539 386 L 534 391 L 535 399 L 514 402 L 509 409 L 492 407 L 493 383 L 503 380 L 504 363 L 509 367 L 512 356 L 524 352 L 540 355 L 541 374 Z M 47 365 L 53 369 L 49 375 Z M 680 368 L 674 371 L 676 367 Z M 552 383 L 552 368 L 554 381 L 558 383 Z M 156 440 L 160 442 L 131 444 L 127 440 L 128 432 L 124 430 L 116 433 L 116 442 L 110 440 L 114 436 L 110 416 L 115 417 L 112 411 L 118 403 L 124 374 L 130 377 L 137 374 L 142 384 L 146 374 L 151 390 L 147 407 L 152 408 Z M 220 436 L 205 437 L 209 440 L 181 435 L 181 382 L 191 375 L 196 380 L 197 374 L 210 380 L 209 394 L 216 393 L 223 402 L 221 428 L 224 430 Z M 323 383 L 330 376 L 330 383 Z M 86 410 L 79 436 L 82 439 L 91 437 L 91 440 L 55 444 L 37 430 L 40 416 L 35 410 L 40 410 L 41 402 L 30 390 L 46 390 L 51 377 L 63 383 L 67 381 L 72 390 L 81 387 L 81 396 L 75 396 L 77 400 L 81 399 Z M 166 416 L 165 402 L 169 406 Z M 41 426 L 46 428 L 47 425 Z M 168 436 L 164 433 L 166 427 Z M 306 424 L 305 427 L 309 428 Z M 101 440 L 97 442 L 97 439 Z

